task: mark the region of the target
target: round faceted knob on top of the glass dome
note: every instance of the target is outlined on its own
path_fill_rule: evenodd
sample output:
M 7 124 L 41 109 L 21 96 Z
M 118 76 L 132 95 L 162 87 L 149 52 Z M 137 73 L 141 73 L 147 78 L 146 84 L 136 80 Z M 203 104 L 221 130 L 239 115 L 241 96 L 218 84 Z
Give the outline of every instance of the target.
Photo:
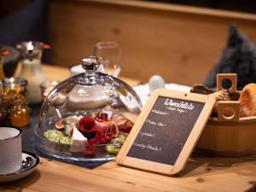
M 100 67 L 100 61 L 98 61 L 96 56 L 87 56 L 82 60 L 82 67 L 86 75 L 93 76 Z

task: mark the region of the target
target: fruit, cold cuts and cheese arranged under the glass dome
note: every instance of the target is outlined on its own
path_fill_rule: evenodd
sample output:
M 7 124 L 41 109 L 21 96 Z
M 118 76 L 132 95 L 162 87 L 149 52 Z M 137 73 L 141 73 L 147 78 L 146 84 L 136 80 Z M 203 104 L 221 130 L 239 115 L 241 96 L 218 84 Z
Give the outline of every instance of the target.
M 55 130 L 44 131 L 49 142 L 66 144 L 73 154 L 93 157 L 97 148 L 118 154 L 133 123 L 119 113 L 69 116 L 55 122 Z

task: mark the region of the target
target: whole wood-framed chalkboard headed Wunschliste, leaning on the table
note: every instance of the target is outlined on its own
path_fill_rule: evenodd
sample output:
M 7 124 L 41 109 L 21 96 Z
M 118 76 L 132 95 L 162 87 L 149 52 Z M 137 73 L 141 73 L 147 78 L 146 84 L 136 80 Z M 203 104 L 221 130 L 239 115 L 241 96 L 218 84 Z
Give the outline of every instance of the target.
M 143 108 L 117 162 L 151 172 L 179 172 L 189 159 L 214 102 L 214 96 L 157 90 Z

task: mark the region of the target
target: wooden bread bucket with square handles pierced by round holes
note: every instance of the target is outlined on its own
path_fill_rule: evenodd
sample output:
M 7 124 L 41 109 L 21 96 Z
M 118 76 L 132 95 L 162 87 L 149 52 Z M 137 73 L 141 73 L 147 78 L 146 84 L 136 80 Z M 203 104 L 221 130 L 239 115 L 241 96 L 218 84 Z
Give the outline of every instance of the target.
M 218 74 L 218 90 L 223 89 L 223 79 L 230 79 L 230 89 L 236 89 L 236 74 Z M 224 108 L 233 109 L 232 116 L 224 116 Z M 196 151 L 213 156 L 256 154 L 256 116 L 239 118 L 239 113 L 239 102 L 218 102 L 218 118 L 208 120 Z

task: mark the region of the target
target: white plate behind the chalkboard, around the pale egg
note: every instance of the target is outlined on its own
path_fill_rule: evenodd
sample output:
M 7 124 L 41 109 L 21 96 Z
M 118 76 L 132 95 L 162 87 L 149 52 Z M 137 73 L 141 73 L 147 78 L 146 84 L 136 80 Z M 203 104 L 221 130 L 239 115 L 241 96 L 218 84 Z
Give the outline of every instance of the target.
M 150 90 L 149 90 L 148 84 L 138 84 L 136 86 L 133 86 L 132 88 L 137 92 L 137 96 L 140 97 L 144 106 L 148 100 L 148 97 L 150 96 Z M 183 84 L 165 84 L 165 89 L 189 92 L 191 87 Z

